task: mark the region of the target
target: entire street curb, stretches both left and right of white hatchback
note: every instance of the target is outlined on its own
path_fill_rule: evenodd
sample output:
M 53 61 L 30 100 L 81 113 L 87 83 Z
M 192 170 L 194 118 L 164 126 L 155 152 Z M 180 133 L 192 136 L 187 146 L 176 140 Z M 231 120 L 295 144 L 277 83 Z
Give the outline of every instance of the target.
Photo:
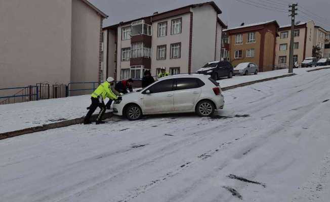
M 314 71 L 316 71 L 316 70 L 314 70 Z M 286 74 L 286 75 L 282 75 L 282 76 L 276 76 L 276 77 L 271 77 L 271 78 L 266 78 L 266 79 L 261 79 L 261 80 L 256 80 L 256 81 L 240 83 L 240 84 L 237 84 L 237 85 L 232 85 L 232 86 L 227 86 L 227 87 L 221 88 L 221 90 L 226 91 L 226 90 L 229 90 L 229 89 L 242 87 L 242 86 L 246 86 L 246 85 L 251 85 L 251 84 L 254 84 L 254 83 L 260 83 L 260 82 L 264 82 L 264 81 L 270 81 L 270 80 L 275 80 L 275 79 L 278 79 L 278 78 L 284 78 L 284 77 L 295 76 L 295 75 L 296 74 L 294 74 L 294 73 L 293 74 Z M 113 114 L 111 112 L 108 112 L 108 113 L 105 113 L 103 115 L 103 119 L 108 119 L 108 118 L 111 118 L 112 116 L 113 116 Z M 96 117 L 97 117 L 97 115 L 93 115 L 91 117 L 91 120 L 95 121 Z M 16 137 L 16 136 L 19 136 L 19 135 L 34 133 L 34 132 L 40 132 L 40 131 L 45 131 L 45 130 L 50 130 L 50 129 L 55 129 L 55 128 L 62 128 L 62 127 L 66 127 L 66 126 L 81 124 L 83 122 L 84 122 L 84 117 L 81 117 L 81 118 L 56 122 L 56 123 L 45 124 L 45 125 L 42 125 L 42 126 L 25 128 L 25 129 L 22 129 L 22 130 L 15 130 L 15 131 L 11 131 L 11 132 L 0 133 L 0 140 L 10 138 L 10 137 Z

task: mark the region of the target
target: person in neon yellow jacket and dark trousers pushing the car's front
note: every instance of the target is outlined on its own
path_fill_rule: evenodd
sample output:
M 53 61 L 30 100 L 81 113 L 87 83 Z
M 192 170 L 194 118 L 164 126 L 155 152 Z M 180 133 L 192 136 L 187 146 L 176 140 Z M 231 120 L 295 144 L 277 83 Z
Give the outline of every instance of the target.
M 103 114 L 105 113 L 106 107 L 104 104 L 104 99 L 106 97 L 109 97 L 109 99 L 115 100 L 115 99 L 121 99 L 121 97 L 115 95 L 111 90 L 111 85 L 113 85 L 114 79 L 112 77 L 107 78 L 107 80 L 99 85 L 97 89 L 92 93 L 92 104 L 89 107 L 89 111 L 85 117 L 84 124 L 90 124 L 90 118 L 92 114 L 95 112 L 95 110 L 99 107 L 101 110 L 97 116 L 96 124 L 102 124 L 105 123 L 104 121 L 101 121 Z

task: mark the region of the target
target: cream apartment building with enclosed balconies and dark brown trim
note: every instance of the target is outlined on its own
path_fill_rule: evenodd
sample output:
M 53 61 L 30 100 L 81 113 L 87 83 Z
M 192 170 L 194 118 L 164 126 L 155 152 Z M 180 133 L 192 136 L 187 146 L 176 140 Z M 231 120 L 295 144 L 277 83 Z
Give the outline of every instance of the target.
M 171 74 L 196 72 L 220 60 L 221 10 L 214 2 L 194 4 L 103 28 L 107 75 L 117 80 L 153 76 L 160 68 Z

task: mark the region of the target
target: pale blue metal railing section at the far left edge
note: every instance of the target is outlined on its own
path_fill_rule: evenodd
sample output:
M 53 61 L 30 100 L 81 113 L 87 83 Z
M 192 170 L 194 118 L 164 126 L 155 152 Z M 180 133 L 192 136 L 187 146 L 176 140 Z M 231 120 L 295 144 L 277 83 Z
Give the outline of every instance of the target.
M 9 94 L 10 92 L 6 91 L 13 91 L 19 89 L 16 93 L 13 95 L 9 96 L 2 96 L 0 97 L 0 105 L 5 105 L 5 104 L 13 104 L 13 103 L 18 103 L 18 102 L 28 102 L 32 100 L 38 100 L 38 86 L 24 86 L 24 87 L 14 87 L 14 88 L 0 88 L 0 92 L 4 94 Z

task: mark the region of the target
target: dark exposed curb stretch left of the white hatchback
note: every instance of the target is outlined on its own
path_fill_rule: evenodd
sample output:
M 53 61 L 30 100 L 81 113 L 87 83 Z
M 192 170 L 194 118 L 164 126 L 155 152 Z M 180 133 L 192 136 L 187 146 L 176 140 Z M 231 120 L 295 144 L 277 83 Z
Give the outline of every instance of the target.
M 108 119 L 108 118 L 111 118 L 112 116 L 113 116 L 113 114 L 111 112 L 108 112 L 103 115 L 103 119 Z M 95 121 L 96 117 L 97 117 L 97 115 L 93 115 L 91 117 L 91 121 Z M 34 133 L 34 132 L 50 130 L 50 129 L 54 129 L 54 128 L 62 128 L 62 127 L 66 127 L 66 126 L 81 124 L 83 122 L 84 122 L 84 117 L 81 117 L 81 118 L 56 122 L 56 123 L 45 124 L 42 126 L 25 128 L 22 130 L 15 130 L 15 131 L 11 131 L 11 132 L 0 133 L 0 140 L 10 138 L 10 137 L 16 137 L 19 135 L 25 135 L 25 134 Z

